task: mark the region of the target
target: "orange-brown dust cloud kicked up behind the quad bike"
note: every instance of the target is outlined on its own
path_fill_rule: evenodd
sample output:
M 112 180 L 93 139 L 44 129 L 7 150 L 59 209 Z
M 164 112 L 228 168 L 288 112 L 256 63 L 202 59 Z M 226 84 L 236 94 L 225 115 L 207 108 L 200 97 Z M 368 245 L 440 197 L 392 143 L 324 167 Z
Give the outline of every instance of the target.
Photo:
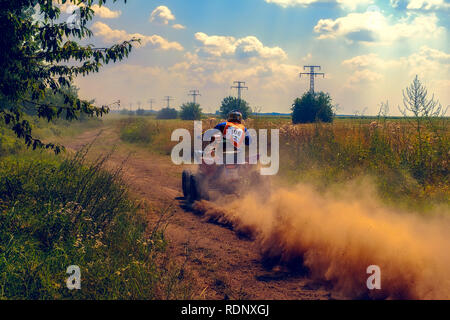
M 252 236 L 264 259 L 296 262 L 349 298 L 450 299 L 448 207 L 425 217 L 389 209 L 375 194 L 370 183 L 333 193 L 298 185 L 195 209 Z M 367 289 L 370 265 L 381 268 L 381 290 Z

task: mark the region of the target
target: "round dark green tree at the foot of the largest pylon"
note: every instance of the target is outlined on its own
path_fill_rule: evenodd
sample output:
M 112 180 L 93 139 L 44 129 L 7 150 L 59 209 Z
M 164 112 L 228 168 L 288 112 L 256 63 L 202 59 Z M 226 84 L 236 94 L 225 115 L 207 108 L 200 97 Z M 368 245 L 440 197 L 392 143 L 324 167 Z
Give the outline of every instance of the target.
M 334 113 L 328 93 L 306 92 L 292 105 L 292 122 L 311 123 L 316 121 L 333 122 Z

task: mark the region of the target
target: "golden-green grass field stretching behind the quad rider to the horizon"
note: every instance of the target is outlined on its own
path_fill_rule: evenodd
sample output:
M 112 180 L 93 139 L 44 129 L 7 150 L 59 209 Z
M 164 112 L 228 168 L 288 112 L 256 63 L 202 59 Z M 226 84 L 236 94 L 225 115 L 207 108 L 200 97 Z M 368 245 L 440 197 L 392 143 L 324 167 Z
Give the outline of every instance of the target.
M 177 128 L 193 130 L 192 121 L 124 117 L 111 120 L 121 139 L 170 155 Z M 203 129 L 220 119 L 203 120 Z M 426 210 L 449 204 L 449 119 L 337 118 L 332 124 L 292 125 L 288 117 L 255 117 L 253 129 L 280 129 L 280 177 L 320 187 L 368 177 L 386 202 Z

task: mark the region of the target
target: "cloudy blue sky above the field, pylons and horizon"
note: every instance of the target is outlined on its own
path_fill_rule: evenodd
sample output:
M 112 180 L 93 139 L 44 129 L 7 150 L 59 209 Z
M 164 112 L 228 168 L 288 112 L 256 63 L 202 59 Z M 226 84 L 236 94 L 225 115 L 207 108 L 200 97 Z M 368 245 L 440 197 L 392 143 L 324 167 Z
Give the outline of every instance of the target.
M 398 114 L 401 92 L 415 74 L 444 105 L 450 104 L 449 0 L 129 0 L 97 8 L 96 45 L 138 36 L 129 59 L 79 78 L 81 93 L 99 103 L 121 99 L 154 108 L 171 95 L 180 105 L 199 89 L 207 111 L 235 94 L 263 111 L 289 112 L 308 90 L 298 73 L 321 65 L 338 113 L 376 114 L 389 100 Z M 98 81 L 102 82 L 99 90 Z

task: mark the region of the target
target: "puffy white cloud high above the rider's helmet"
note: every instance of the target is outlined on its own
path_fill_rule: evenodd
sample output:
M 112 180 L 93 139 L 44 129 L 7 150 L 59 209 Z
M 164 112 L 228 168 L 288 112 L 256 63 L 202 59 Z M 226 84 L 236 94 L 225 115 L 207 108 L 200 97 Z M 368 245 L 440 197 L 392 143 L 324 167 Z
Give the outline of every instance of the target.
M 236 39 L 231 36 L 209 36 L 197 32 L 195 39 L 199 44 L 197 54 L 206 58 L 285 59 L 286 53 L 280 47 L 266 47 L 254 36 Z

